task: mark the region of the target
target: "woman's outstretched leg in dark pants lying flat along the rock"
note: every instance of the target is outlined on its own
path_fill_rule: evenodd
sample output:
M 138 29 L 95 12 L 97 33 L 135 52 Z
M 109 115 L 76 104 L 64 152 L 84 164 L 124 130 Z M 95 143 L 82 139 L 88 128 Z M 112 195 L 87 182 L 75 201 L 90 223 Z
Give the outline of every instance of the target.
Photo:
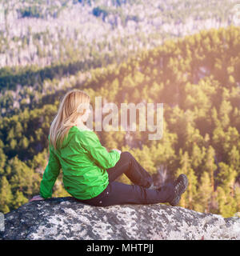
M 154 204 L 171 202 L 174 198 L 174 185 L 168 183 L 161 190 L 150 190 L 138 185 L 110 182 L 95 198 L 79 200 L 91 206 L 113 206 L 123 204 Z

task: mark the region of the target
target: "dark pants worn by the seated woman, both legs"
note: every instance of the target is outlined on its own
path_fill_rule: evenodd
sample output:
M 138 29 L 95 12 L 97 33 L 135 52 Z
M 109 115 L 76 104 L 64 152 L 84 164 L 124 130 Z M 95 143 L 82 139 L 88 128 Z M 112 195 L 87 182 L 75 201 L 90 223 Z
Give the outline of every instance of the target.
M 128 151 L 122 152 L 116 165 L 106 171 L 109 175 L 109 184 L 106 189 L 95 198 L 78 201 L 92 206 L 112 206 L 170 202 L 173 198 L 172 183 L 162 186 L 161 190 L 148 189 L 153 183 L 152 177 Z M 114 182 L 121 174 L 126 174 L 134 185 Z

